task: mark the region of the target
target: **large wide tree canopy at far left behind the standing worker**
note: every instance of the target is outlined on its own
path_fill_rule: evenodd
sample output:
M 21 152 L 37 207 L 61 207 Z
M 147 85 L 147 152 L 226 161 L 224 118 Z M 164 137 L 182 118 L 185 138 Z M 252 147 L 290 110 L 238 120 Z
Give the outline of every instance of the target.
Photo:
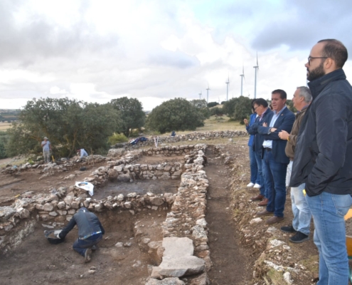
M 43 137 L 49 138 L 58 156 L 70 156 L 78 147 L 92 151 L 107 147 L 107 138 L 121 124 L 110 103 L 99 105 L 68 98 L 29 100 L 8 129 L 9 155 L 41 151 Z

